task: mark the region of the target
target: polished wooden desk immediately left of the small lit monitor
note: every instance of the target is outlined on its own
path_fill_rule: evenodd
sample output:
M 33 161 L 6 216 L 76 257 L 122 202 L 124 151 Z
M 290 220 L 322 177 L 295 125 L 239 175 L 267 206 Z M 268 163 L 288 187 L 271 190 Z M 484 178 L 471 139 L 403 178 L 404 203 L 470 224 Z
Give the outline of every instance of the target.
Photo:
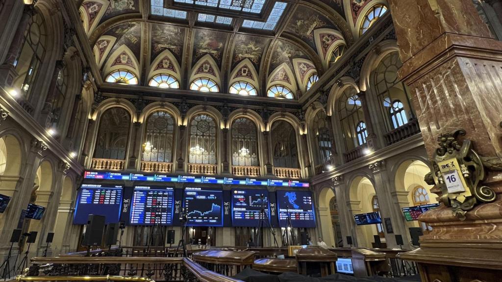
M 298 273 L 307 275 L 307 263 L 317 263 L 321 267 L 321 276 L 335 273 L 336 253 L 317 246 L 309 246 L 296 253 Z

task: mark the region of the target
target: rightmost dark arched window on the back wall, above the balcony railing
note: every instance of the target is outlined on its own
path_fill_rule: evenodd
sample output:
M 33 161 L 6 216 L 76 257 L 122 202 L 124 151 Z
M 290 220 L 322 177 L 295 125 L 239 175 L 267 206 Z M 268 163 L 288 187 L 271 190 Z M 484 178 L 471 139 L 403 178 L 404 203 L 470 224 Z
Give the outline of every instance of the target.
M 271 136 L 274 167 L 299 168 L 296 131 L 291 123 L 285 120 L 274 122 L 272 124 Z

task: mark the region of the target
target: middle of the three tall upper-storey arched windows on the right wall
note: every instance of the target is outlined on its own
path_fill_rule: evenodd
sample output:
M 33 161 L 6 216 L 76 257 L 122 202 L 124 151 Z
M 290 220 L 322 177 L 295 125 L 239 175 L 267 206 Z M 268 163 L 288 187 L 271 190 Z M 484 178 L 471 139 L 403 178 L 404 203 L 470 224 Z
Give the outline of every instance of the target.
M 349 87 L 343 91 L 338 100 L 338 114 L 345 150 L 348 152 L 364 144 L 367 136 L 364 113 L 362 111 L 361 100 L 355 88 Z

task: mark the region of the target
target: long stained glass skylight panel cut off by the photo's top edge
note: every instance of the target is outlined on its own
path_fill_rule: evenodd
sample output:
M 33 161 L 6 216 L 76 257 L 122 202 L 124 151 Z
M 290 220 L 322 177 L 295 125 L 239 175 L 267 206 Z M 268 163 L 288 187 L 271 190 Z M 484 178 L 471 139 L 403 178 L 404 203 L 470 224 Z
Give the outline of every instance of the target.
M 174 0 L 174 2 L 260 14 L 267 0 Z

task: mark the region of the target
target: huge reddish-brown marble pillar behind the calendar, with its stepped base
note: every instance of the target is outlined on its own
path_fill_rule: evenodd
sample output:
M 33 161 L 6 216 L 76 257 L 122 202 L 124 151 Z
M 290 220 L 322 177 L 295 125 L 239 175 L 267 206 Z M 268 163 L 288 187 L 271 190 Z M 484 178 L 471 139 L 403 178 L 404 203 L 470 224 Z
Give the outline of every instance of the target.
M 466 134 L 462 139 L 471 140 L 474 151 L 499 160 L 502 157 L 499 79 L 502 42 L 491 38 L 471 1 L 415 0 L 413 5 L 402 0 L 388 2 L 403 62 L 399 76 L 412 93 L 429 158 L 432 159 L 439 147 L 437 137 L 441 133 L 463 128 Z M 447 207 L 423 214 L 421 220 L 430 223 L 433 230 L 420 238 L 421 248 L 410 252 L 405 259 L 412 260 L 420 254 L 422 261 L 440 257 L 435 264 L 459 265 L 455 262 L 469 261 L 463 264 L 472 266 L 469 277 L 492 279 L 475 267 L 495 265 L 502 256 L 502 247 L 495 243 L 502 240 L 501 178 L 500 172 L 488 172 L 482 185 L 495 191 L 497 198 L 493 203 L 479 204 L 468 211 L 464 221 L 454 217 Z M 468 255 L 455 258 L 445 255 L 450 251 L 463 253 L 464 249 L 469 249 Z M 479 261 L 482 263 L 477 263 Z M 464 269 L 436 267 L 435 273 L 461 274 Z M 458 279 L 470 278 L 459 276 Z

